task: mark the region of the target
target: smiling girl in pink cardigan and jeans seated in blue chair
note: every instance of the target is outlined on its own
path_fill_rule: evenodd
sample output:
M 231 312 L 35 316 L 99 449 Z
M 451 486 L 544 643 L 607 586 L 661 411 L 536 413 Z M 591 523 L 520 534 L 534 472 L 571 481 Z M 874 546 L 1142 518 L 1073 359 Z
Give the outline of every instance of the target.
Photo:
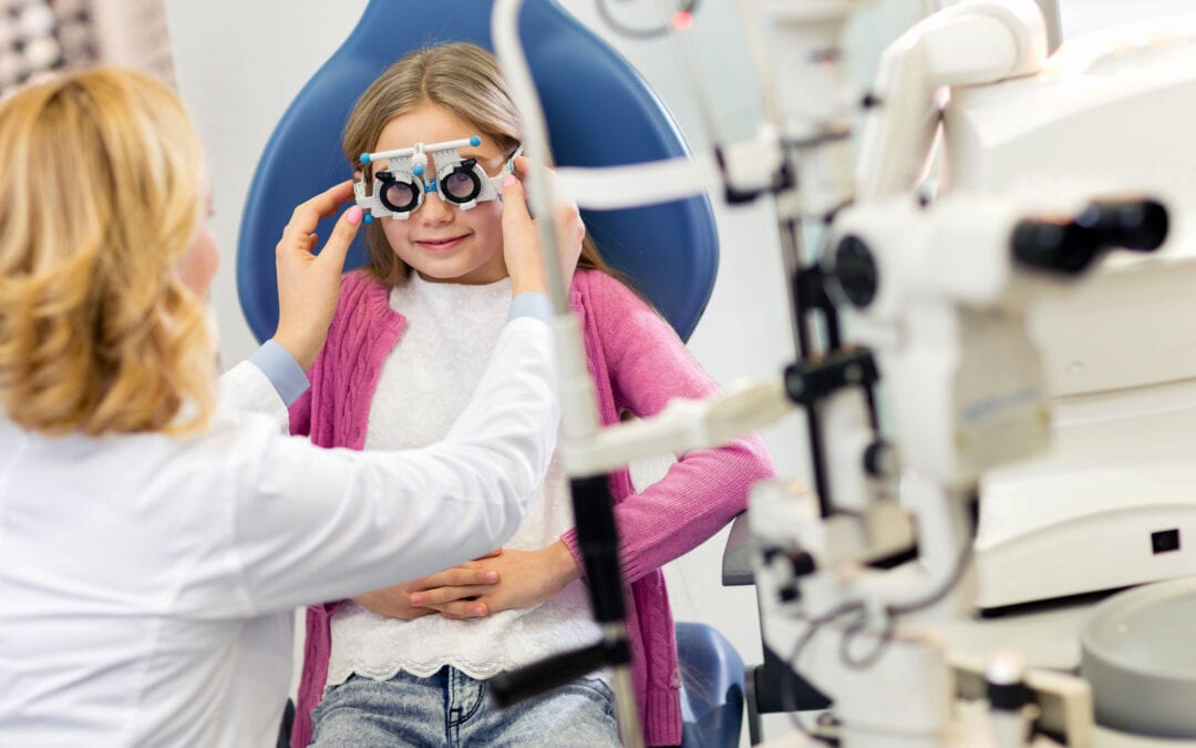
M 358 163 L 362 152 L 472 135 L 481 145 L 458 156 L 495 175 L 519 147 L 519 118 L 488 51 L 444 44 L 405 56 L 366 90 L 349 115 L 343 150 Z M 428 158 L 426 172 L 437 175 L 435 154 Z M 370 163 L 362 178 L 371 184 L 372 169 L 386 170 L 389 180 L 395 168 Z M 402 206 L 408 197 L 389 202 Z M 367 227 L 368 267 L 344 278 L 312 388 L 292 408 L 294 433 L 366 450 L 443 436 L 476 385 L 477 361 L 506 314 L 511 281 L 499 211 L 494 201 L 462 209 L 429 193 L 407 218 Z M 584 248 L 580 267 L 570 303 L 584 322 L 606 424 L 715 391 L 667 323 L 593 247 Z M 744 437 L 682 455 L 642 492 L 626 470 L 612 480 L 630 583 L 634 681 L 649 744 L 681 742 L 681 681 L 660 566 L 743 511 L 749 486 L 770 473 L 761 442 Z M 617 744 L 600 676 L 501 712 L 483 699 L 486 679 L 598 639 L 570 525 L 567 482 L 554 461 L 529 517 L 500 552 L 311 608 L 292 744 Z

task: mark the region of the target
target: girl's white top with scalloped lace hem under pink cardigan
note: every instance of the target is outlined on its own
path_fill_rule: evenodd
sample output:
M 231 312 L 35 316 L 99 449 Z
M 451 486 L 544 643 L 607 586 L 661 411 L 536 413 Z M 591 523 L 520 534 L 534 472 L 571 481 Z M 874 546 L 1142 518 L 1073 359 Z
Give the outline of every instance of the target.
M 405 318 L 370 406 L 365 449 L 402 449 L 441 440 L 477 384 L 511 306 L 511 281 L 484 286 L 428 282 L 413 273 L 390 294 Z M 560 456 L 527 517 L 504 547 L 538 549 L 573 527 Z M 541 606 L 452 621 L 426 615 L 401 621 L 346 602 L 332 614 L 328 686 L 349 675 L 389 680 L 399 670 L 433 675 L 444 665 L 486 679 L 548 655 L 592 644 L 599 631 L 585 584 Z

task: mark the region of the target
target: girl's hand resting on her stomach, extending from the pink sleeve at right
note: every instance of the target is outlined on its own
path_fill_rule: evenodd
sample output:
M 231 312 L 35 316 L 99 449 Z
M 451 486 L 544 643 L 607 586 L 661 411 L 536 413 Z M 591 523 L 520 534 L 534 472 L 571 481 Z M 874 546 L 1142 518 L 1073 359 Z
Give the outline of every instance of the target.
M 576 560 L 560 541 L 539 551 L 504 548 L 501 555 L 469 561 L 462 567 L 496 571 L 499 582 L 475 600 L 460 600 L 454 588 L 435 588 L 413 592 L 409 602 L 438 610 L 447 619 L 478 618 L 471 613 L 478 603 L 486 607 L 487 614 L 531 608 L 581 578 Z

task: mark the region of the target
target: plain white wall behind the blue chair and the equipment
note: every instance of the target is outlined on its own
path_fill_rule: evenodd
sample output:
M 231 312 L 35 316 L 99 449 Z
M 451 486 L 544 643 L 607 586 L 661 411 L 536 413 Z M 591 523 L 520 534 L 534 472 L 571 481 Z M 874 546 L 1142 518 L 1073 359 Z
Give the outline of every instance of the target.
M 635 12 L 654 2 L 612 2 Z M 561 0 L 561 5 L 604 36 L 657 89 L 677 116 L 695 150 L 709 144 L 685 80 L 665 42 L 616 38 L 598 19 L 594 0 Z M 849 29 L 849 67 L 866 81 L 890 39 L 907 28 L 927 0 L 883 0 Z M 1184 0 L 1064 0 L 1063 32 L 1128 20 L 1142 13 L 1184 10 Z M 244 358 L 255 342 L 243 321 L 233 281 L 240 209 L 267 136 L 282 110 L 316 68 L 353 28 L 365 0 L 166 0 L 175 44 L 177 79 L 206 145 L 215 183 L 214 229 L 225 250 L 213 304 L 218 310 L 221 352 L 226 363 Z M 758 116 L 756 87 L 738 19 L 726 0 L 701 5 L 694 34 L 703 50 L 703 78 L 718 99 L 715 121 L 724 134 L 744 136 Z M 690 349 L 721 383 L 774 372 L 793 357 L 781 279 L 781 263 L 769 206 L 716 206 L 722 263 L 714 296 Z M 281 229 L 281 226 L 280 226 Z M 764 432 L 777 469 L 806 475 L 801 424 L 797 416 Z M 710 622 L 749 662 L 761 658 L 753 592 L 719 584 L 722 535 L 670 565 L 672 600 L 678 619 Z M 767 734 L 788 731 L 785 718 L 765 720 Z M 746 740 L 746 738 L 745 738 Z

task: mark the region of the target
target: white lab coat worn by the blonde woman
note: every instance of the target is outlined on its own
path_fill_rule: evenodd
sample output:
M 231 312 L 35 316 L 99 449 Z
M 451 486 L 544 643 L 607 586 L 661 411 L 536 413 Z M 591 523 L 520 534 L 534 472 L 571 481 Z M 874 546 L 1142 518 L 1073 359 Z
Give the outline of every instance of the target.
M 417 452 L 283 436 L 250 364 L 193 438 L 0 419 L 0 744 L 273 746 L 295 607 L 514 533 L 555 446 L 551 365 L 548 326 L 512 321 L 448 439 Z

